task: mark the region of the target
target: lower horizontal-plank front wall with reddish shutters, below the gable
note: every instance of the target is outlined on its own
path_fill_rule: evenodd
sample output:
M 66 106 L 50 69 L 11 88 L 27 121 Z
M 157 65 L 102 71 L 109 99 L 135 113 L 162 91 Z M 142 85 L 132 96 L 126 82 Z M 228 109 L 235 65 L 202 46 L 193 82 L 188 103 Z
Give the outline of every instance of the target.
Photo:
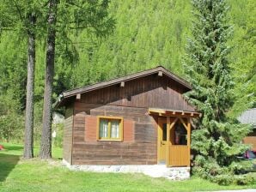
M 96 141 L 97 116 L 124 117 L 124 141 Z M 156 126 L 147 109 L 76 101 L 73 165 L 154 165 Z

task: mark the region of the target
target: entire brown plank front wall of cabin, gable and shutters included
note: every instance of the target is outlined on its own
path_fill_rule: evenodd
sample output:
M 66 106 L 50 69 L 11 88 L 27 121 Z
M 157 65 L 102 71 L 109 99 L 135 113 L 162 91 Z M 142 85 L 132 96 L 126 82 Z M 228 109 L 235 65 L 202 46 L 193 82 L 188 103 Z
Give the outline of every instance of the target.
M 166 76 L 149 75 L 82 93 L 74 105 L 72 164 L 153 165 L 157 163 L 157 120 L 149 107 L 194 111 L 186 90 Z M 96 141 L 96 117 L 124 117 L 124 141 Z

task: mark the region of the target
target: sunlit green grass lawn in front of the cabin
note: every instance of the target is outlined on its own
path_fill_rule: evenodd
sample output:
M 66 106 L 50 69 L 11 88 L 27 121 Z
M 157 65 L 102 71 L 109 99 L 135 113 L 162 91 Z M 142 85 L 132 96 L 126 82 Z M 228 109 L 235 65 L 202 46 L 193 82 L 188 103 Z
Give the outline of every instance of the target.
M 1 144 L 1 143 L 0 143 Z M 69 171 L 61 165 L 62 149 L 53 148 L 51 161 L 24 160 L 22 146 L 2 143 L 0 151 L 0 191 L 210 191 L 248 189 L 251 186 L 219 186 L 200 178 L 169 181 L 142 174 Z M 38 147 L 35 153 L 38 154 Z

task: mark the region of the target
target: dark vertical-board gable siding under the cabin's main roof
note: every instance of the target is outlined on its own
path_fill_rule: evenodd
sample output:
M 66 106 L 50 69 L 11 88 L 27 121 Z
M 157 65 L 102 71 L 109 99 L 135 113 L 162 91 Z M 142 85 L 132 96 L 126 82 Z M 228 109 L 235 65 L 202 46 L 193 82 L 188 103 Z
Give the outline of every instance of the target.
M 182 97 L 185 87 L 166 76 L 149 75 L 125 82 L 125 87 L 114 85 L 84 93 L 81 101 L 98 105 L 156 107 L 178 111 L 195 111 Z

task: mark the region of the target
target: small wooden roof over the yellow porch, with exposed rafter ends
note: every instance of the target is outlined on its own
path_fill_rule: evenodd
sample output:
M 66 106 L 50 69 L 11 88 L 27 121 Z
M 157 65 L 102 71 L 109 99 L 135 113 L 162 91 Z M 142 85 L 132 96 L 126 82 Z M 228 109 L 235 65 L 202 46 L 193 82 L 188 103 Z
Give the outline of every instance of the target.
M 171 109 L 159 109 L 159 108 L 149 108 L 149 115 L 157 115 L 162 117 L 190 117 L 196 118 L 201 117 L 201 113 L 196 111 L 179 111 Z

